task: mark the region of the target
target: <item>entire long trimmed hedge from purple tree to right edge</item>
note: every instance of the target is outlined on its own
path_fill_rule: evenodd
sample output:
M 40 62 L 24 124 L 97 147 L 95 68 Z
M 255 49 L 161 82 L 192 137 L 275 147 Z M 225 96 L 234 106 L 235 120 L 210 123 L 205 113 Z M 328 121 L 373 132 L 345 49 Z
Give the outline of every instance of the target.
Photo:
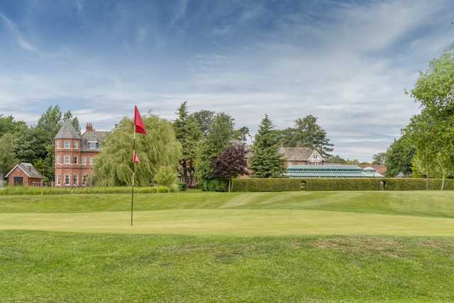
M 441 180 L 429 179 L 428 189 L 441 189 Z M 454 180 L 446 179 L 445 190 L 454 190 Z M 329 190 L 426 190 L 425 179 L 332 178 L 332 179 L 236 179 L 233 192 L 296 192 Z

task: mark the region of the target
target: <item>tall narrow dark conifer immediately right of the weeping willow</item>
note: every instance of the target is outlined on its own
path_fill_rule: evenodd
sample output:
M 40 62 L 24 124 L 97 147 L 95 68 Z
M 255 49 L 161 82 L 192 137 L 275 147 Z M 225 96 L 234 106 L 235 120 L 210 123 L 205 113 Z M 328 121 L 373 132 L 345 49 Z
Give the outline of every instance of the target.
M 182 145 L 182 158 L 179 159 L 180 175 L 188 187 L 194 184 L 194 159 L 196 150 L 201 140 L 200 126 L 194 116 L 190 116 L 187 110 L 187 102 L 184 101 L 177 111 L 177 119 L 172 123 L 175 136 Z

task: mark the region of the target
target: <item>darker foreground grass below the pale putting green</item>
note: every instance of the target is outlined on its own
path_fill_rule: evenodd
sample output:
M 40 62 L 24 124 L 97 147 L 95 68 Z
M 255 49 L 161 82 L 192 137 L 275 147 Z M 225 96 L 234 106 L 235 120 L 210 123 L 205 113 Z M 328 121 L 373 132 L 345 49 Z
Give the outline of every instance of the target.
M 0 302 L 452 302 L 453 238 L 0 231 Z

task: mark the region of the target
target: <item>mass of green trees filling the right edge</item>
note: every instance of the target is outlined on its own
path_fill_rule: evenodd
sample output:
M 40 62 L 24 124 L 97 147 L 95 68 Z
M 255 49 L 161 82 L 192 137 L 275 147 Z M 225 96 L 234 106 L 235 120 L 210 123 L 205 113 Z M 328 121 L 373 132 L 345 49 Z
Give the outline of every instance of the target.
M 389 146 L 387 175 L 453 177 L 454 53 L 450 49 L 420 72 L 409 94 L 421 107 Z M 443 182 L 442 182 L 443 189 Z

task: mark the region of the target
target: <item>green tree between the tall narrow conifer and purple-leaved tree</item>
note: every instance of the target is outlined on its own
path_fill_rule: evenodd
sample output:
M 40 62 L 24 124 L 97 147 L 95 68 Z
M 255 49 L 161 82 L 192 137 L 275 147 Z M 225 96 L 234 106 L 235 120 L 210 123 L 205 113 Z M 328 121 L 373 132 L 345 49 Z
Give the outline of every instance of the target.
M 209 132 L 197 149 L 195 168 L 199 182 L 213 177 L 214 160 L 231 145 L 233 136 L 233 118 L 224 113 L 216 114 Z

